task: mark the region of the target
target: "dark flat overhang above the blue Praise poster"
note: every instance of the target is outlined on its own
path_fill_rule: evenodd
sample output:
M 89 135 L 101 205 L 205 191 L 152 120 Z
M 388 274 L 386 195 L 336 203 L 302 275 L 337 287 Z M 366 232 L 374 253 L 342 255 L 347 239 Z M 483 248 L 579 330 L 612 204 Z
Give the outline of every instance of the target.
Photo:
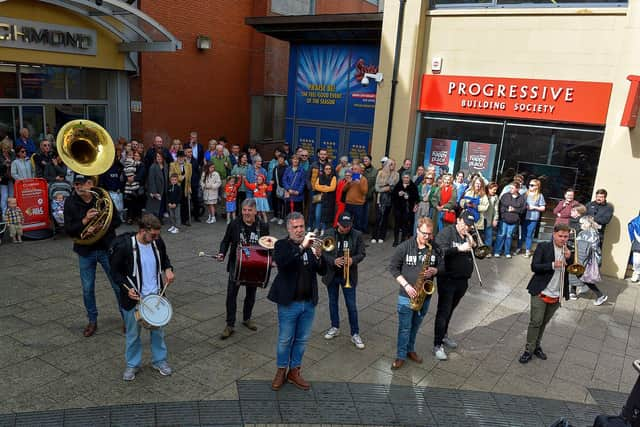
M 245 24 L 267 36 L 288 42 L 379 42 L 382 13 L 264 16 L 245 18 Z

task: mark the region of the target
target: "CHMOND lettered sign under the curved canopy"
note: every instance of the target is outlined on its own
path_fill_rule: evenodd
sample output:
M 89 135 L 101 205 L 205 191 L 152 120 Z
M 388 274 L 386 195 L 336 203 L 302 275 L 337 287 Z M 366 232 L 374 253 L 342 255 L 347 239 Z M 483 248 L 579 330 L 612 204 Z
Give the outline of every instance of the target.
M 96 43 L 91 29 L 0 16 L 0 47 L 95 55 Z

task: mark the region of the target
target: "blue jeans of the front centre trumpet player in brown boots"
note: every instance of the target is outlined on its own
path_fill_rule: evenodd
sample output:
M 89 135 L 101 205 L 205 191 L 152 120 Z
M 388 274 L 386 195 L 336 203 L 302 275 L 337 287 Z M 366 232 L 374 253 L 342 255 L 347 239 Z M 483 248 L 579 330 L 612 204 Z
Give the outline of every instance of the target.
M 278 368 L 302 366 L 302 356 L 311 335 L 316 307 L 311 301 L 278 304 Z

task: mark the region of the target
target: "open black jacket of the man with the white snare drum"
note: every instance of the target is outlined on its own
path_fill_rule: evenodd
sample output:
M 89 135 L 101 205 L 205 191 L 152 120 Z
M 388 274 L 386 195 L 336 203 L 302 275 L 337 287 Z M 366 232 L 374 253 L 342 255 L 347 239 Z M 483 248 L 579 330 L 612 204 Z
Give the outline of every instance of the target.
M 115 283 L 120 285 L 120 306 L 125 310 L 131 310 L 138 303 L 135 300 L 129 298 L 129 290 L 124 284 L 128 287 L 131 287 L 131 283 L 127 280 L 127 277 L 131 279 L 134 284 L 134 287 L 140 291 L 142 288 L 142 264 L 140 263 L 140 257 L 138 255 L 138 241 L 135 239 L 136 233 L 124 233 L 116 237 L 113 241 L 111 248 L 109 249 L 109 264 L 111 265 L 111 278 Z M 136 240 L 136 245 L 134 248 L 133 240 Z M 154 251 L 156 255 L 156 266 L 158 271 L 158 283 L 160 284 L 160 292 L 165 287 L 165 284 L 162 283 L 160 277 L 162 273 L 167 269 L 173 267 L 171 266 L 171 261 L 169 261 L 169 257 L 167 256 L 167 247 L 164 244 L 162 238 L 158 238 L 152 243 L 157 252 Z M 134 271 L 134 252 L 135 257 L 137 259 L 136 265 L 137 269 Z

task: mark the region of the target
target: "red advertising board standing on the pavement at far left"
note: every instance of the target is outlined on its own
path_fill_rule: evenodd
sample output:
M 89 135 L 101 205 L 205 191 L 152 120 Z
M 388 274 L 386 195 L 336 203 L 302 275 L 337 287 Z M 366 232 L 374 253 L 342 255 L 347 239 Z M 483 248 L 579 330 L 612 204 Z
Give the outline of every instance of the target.
M 23 230 L 50 229 L 47 181 L 42 178 L 20 179 L 14 189 L 18 206 L 24 214 Z

